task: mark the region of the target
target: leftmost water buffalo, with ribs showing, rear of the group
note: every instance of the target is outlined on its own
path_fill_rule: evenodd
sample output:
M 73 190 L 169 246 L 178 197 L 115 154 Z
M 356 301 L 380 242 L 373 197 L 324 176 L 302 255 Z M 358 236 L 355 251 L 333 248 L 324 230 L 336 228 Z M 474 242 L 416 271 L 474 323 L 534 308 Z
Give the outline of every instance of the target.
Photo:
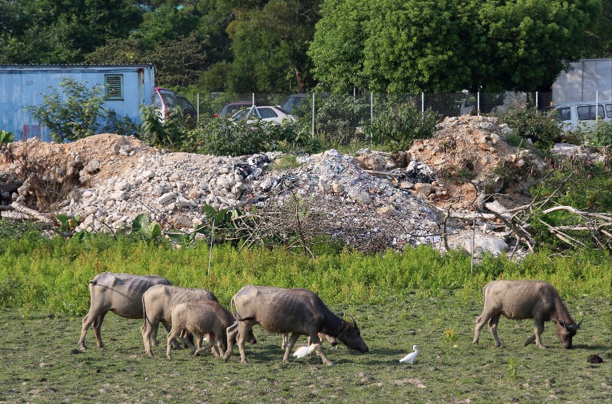
M 89 313 L 83 318 L 79 348 L 86 349 L 85 334 L 94 329 L 98 348 L 103 346 L 100 328 L 108 311 L 124 318 L 142 318 L 142 295 L 153 285 L 172 285 L 158 275 L 103 272 L 89 281 Z

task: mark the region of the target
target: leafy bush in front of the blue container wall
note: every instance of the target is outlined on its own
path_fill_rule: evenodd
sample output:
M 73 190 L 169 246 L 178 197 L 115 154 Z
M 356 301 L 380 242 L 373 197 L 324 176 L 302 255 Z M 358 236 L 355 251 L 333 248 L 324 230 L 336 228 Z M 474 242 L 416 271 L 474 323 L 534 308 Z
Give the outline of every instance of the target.
M 43 94 L 43 103 L 26 107 L 33 117 L 51 129 L 53 140 L 76 141 L 91 136 L 98 129 L 98 119 L 106 116 L 104 86 L 96 84 L 91 89 L 87 82 L 65 78 L 60 82 L 62 94 L 49 87 L 51 94 Z

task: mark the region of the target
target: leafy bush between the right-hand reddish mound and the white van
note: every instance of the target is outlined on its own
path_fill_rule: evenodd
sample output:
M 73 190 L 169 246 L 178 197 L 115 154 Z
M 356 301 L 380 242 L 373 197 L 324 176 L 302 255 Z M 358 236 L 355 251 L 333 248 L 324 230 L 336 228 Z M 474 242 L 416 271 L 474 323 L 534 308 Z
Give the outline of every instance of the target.
M 499 115 L 499 124 L 508 124 L 517 136 L 531 139 L 535 147 L 546 151 L 563 133 L 555 113 L 540 112 L 529 103 L 514 103 Z

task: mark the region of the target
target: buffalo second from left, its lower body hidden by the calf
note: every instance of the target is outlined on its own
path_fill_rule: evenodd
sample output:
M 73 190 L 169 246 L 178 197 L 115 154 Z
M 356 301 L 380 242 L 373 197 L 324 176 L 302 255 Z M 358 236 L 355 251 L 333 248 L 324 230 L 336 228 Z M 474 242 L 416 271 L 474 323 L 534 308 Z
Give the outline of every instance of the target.
M 142 339 L 144 351 L 148 356 L 153 356 L 151 341 L 157 346 L 157 333 L 160 322 L 164 325 L 167 332 L 172 326 L 171 311 L 174 306 L 189 301 L 211 300 L 218 301 L 215 294 L 206 289 L 191 289 L 172 285 L 157 285 L 148 289 L 142 295 L 141 313 L 144 318 L 142 325 Z

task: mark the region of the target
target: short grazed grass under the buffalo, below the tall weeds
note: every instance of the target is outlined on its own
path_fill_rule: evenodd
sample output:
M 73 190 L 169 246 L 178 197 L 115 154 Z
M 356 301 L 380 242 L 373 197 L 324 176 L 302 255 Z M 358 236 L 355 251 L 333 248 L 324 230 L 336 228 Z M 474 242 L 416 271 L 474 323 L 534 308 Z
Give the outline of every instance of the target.
M 0 403 L 609 403 L 612 395 L 610 301 L 566 301 L 575 319 L 585 317 L 574 348 L 563 349 L 554 325 L 542 336 L 546 349 L 523 341 L 530 320 L 499 322 L 502 348 L 490 332 L 471 344 L 480 299 L 442 291 L 438 297 L 409 293 L 405 301 L 357 306 L 348 311 L 362 328 L 368 353 L 345 346 L 320 358 L 282 363 L 281 337 L 255 327 L 258 343 L 227 363 L 189 350 L 164 356 L 160 330 L 155 357 L 144 355 L 141 322 L 106 317 L 97 348 L 77 347 L 81 318 L 31 311 L 0 311 Z M 484 330 L 483 330 L 484 331 Z M 305 344 L 302 337 L 298 344 Z M 399 359 L 418 344 L 414 365 Z M 604 363 L 591 365 L 597 354 Z

